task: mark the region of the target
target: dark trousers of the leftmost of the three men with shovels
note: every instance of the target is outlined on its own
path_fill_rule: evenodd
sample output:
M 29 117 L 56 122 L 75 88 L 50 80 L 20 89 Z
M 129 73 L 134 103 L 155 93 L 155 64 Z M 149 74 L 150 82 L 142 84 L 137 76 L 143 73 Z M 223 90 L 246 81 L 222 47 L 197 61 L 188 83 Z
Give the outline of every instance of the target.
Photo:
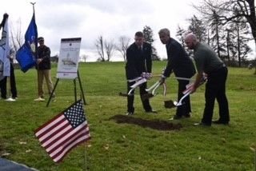
M 130 85 L 133 85 L 135 82 L 127 82 L 127 93 L 130 91 Z M 150 101 L 149 99 L 143 100 L 142 99 L 142 95 L 147 93 L 146 92 L 146 82 L 143 83 L 142 85 L 140 85 L 139 87 L 139 93 L 141 96 L 141 100 L 142 100 L 142 105 L 143 108 L 145 109 L 145 111 L 150 111 L 152 110 L 151 106 L 150 106 Z M 134 91 L 132 92 L 132 96 L 128 96 L 127 97 L 127 112 L 129 113 L 134 113 Z

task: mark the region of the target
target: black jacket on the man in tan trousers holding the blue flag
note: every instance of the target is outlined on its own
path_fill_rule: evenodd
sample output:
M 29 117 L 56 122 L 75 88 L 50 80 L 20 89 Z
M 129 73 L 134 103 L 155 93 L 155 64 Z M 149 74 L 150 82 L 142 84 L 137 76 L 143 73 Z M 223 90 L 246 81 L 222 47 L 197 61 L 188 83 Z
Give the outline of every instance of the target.
M 50 70 L 50 48 L 47 46 L 38 47 L 38 58 L 42 59 L 37 65 L 39 70 Z

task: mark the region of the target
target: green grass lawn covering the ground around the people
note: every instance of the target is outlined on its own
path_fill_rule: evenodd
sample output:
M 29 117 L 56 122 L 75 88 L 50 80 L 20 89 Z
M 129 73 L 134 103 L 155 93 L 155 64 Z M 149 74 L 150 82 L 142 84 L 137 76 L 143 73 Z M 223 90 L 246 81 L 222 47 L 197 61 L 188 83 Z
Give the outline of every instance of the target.
M 85 112 L 91 140 L 86 145 L 73 149 L 61 164 L 54 164 L 34 136 L 34 130 L 74 102 L 73 82 L 60 80 L 56 97 L 47 108 L 46 101 L 34 101 L 37 97 L 36 70 L 29 70 L 26 74 L 16 70 L 18 101 L 0 100 L 2 157 L 39 170 L 254 169 L 254 153 L 250 150 L 250 146 L 256 143 L 254 71 L 229 68 L 226 93 L 230 105 L 230 125 L 212 125 L 209 128 L 193 125 L 202 118 L 204 85 L 191 95 L 192 117 L 181 121 L 170 121 L 175 109 L 165 109 L 163 106 L 163 101 L 176 99 L 177 81 L 174 78 L 167 79 L 166 97 L 160 95 L 159 91 L 159 95 L 150 100 L 152 107 L 158 110 L 157 115 L 143 111 L 137 90 L 133 117 L 182 125 L 179 130 L 159 130 L 140 125 L 118 124 L 111 119 L 126 113 L 126 97 L 118 96 L 119 92 L 126 92 L 123 62 L 79 65 L 88 103 L 85 105 Z M 165 62 L 154 62 L 154 74 L 159 74 L 165 65 Z M 54 66 L 54 82 L 55 75 Z M 158 78 L 153 78 L 149 85 L 157 80 Z M 217 118 L 216 102 L 214 119 Z

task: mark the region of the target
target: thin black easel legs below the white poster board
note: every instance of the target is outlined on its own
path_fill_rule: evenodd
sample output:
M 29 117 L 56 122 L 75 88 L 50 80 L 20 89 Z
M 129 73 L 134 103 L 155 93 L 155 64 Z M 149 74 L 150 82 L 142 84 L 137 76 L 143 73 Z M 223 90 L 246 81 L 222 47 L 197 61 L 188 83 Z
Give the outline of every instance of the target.
M 77 78 L 78 78 L 80 90 L 81 90 L 81 93 L 82 93 L 83 104 L 86 105 L 86 98 L 85 98 L 85 94 L 83 93 L 82 82 L 81 82 L 81 79 L 80 79 L 79 72 L 78 72 L 78 77 L 77 77 Z M 78 99 L 77 99 L 77 98 L 78 98 L 78 97 L 77 97 L 77 84 L 76 84 L 76 79 L 77 79 L 77 78 L 74 78 L 74 79 L 73 79 L 73 82 L 74 82 L 74 101 L 77 101 L 77 100 L 78 100 Z M 54 91 L 55 91 L 55 89 L 56 89 L 56 87 L 57 87 L 57 85 L 58 85 L 58 81 L 59 81 L 59 78 L 57 78 L 57 81 L 55 82 L 55 85 L 54 85 L 54 89 L 53 89 L 53 91 L 50 93 L 50 98 L 49 98 L 49 100 L 48 100 L 48 102 L 47 102 L 46 107 L 48 107 L 49 104 L 50 104 L 50 100 L 51 100 L 51 98 L 52 98 L 53 95 L 54 95 Z

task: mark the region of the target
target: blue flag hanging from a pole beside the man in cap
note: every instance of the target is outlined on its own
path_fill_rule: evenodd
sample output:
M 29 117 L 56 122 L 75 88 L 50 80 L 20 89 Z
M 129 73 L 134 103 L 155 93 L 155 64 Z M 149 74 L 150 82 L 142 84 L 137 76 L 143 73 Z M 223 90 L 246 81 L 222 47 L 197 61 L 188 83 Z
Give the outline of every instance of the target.
M 21 70 L 26 73 L 27 70 L 35 66 L 38 49 L 38 28 L 35 23 L 34 13 L 30 26 L 26 30 L 25 43 L 18 50 L 16 60 L 21 66 Z

